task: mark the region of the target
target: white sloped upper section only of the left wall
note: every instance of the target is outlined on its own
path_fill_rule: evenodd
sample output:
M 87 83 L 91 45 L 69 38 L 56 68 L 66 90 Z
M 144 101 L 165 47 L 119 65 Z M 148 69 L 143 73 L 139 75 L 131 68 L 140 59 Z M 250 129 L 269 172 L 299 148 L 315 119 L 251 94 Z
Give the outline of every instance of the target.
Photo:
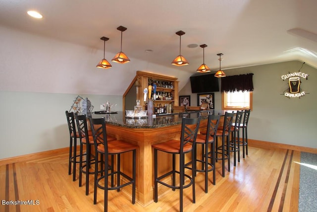
M 96 47 L 60 42 L 0 26 L 0 90 L 123 95 L 136 75 L 148 71 L 178 78 L 191 73 L 130 58 L 127 64 L 96 65 L 104 53 Z M 102 47 L 100 38 L 96 46 Z M 106 52 L 106 58 L 115 53 Z M 150 56 L 149 56 L 150 57 Z M 110 61 L 110 59 L 108 59 Z

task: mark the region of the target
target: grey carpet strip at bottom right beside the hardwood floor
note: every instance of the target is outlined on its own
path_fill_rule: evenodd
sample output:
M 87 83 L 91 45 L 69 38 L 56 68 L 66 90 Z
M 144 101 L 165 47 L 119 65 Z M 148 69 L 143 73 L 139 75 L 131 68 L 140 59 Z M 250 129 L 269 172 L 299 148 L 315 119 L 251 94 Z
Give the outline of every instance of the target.
M 299 212 L 317 212 L 317 154 L 301 152 Z

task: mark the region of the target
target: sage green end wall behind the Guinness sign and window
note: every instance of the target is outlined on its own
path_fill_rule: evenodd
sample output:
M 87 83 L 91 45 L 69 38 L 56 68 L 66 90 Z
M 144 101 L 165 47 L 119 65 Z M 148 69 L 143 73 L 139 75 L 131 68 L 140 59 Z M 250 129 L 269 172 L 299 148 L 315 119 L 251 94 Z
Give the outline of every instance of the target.
M 301 78 L 301 89 L 309 94 L 290 99 L 281 95 L 288 88 L 281 75 L 297 72 L 301 66 L 302 62 L 292 61 L 225 70 L 227 75 L 254 73 L 250 139 L 317 148 L 317 70 L 307 64 L 301 69 L 309 74 L 308 80 Z M 191 105 L 196 106 L 197 94 L 191 93 L 190 82 L 179 92 L 189 94 Z M 220 92 L 215 92 L 215 109 L 221 110 Z

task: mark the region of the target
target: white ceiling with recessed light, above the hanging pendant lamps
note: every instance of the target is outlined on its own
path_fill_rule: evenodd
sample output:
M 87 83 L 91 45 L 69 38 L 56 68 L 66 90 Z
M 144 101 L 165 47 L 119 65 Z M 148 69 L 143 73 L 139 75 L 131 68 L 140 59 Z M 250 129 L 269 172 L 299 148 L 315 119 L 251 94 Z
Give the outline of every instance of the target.
M 317 68 L 316 0 L 0 0 L 0 25 L 163 66 L 181 53 L 196 72 L 299 60 Z M 43 19 L 27 15 L 37 10 Z M 21 38 L 23 39 L 23 38 Z M 197 48 L 188 48 L 197 44 Z M 145 50 L 151 49 L 152 53 Z M 101 55 L 102 58 L 102 55 Z M 98 58 L 99 61 L 101 58 Z M 133 60 L 131 61 L 133 63 Z

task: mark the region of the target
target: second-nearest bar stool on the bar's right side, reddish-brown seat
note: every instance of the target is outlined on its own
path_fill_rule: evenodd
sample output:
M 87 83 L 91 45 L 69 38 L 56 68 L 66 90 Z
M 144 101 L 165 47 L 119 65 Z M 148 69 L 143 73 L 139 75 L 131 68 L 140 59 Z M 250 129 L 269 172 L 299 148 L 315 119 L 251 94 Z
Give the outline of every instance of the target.
M 208 172 L 212 171 L 212 184 L 215 185 L 216 175 L 215 175 L 215 160 L 214 160 L 214 141 L 215 141 L 215 132 L 217 132 L 219 125 L 220 115 L 208 115 L 207 122 L 207 132 L 205 135 L 198 134 L 196 138 L 195 145 L 195 166 L 196 172 L 204 172 L 205 173 L 205 193 L 208 193 Z M 207 136 L 208 135 L 208 136 Z M 197 158 L 197 144 L 202 144 L 202 159 Z M 209 148 L 210 147 L 210 148 Z M 210 160 L 210 162 L 209 162 Z M 197 162 L 202 164 L 202 168 L 197 168 Z M 190 164 L 191 162 L 187 163 Z M 189 167 L 186 167 L 189 168 Z

